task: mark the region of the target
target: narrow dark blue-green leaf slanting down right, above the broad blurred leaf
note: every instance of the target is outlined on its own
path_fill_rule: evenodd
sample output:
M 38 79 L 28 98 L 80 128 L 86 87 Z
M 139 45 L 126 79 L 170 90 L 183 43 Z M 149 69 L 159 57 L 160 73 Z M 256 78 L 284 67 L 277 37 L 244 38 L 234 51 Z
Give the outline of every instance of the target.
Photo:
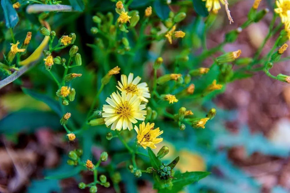
M 40 101 L 46 103 L 52 109 L 52 111 L 54 111 L 55 113 L 57 113 L 57 115 L 59 115 L 59 117 L 62 116 L 61 107 L 56 100 L 48 97 L 45 94 L 40 94 L 40 93 L 37 93 L 37 92 L 32 91 L 30 89 L 22 88 L 22 91 L 25 94 L 30 95 L 31 97 L 35 98 L 36 100 L 40 100 Z

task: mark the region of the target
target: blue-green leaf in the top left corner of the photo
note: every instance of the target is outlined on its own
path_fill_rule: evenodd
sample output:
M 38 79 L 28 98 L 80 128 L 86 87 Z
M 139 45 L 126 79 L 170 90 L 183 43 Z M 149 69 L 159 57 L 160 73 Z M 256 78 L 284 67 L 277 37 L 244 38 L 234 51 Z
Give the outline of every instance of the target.
M 18 15 L 10 0 L 1 0 L 7 28 L 13 28 L 18 23 Z

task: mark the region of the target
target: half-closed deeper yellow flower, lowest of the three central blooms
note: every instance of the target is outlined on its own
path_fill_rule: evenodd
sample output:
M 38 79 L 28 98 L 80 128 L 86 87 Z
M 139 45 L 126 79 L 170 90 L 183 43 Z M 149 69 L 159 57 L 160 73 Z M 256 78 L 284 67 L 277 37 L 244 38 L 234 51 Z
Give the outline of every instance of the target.
M 155 149 L 155 144 L 160 143 L 163 141 L 163 138 L 157 138 L 159 135 L 163 133 L 160 131 L 159 127 L 156 129 L 154 128 L 154 123 L 150 124 L 147 123 L 145 126 L 144 121 L 142 124 L 139 124 L 139 128 L 135 125 L 134 129 L 137 132 L 137 142 L 140 144 L 144 149 L 150 147 Z

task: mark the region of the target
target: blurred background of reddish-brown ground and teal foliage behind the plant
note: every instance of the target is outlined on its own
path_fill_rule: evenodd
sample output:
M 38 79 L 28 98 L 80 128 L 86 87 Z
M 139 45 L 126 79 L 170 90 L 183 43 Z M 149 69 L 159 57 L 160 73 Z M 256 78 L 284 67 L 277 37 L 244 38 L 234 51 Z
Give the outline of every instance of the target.
M 93 26 L 91 18 L 97 11 L 113 12 L 114 3 L 108 2 L 96 1 L 92 3 L 92 8 L 84 13 L 55 13 L 49 20 L 52 29 L 59 36 L 70 32 L 77 34 L 75 45 L 79 46 L 84 65 L 78 67 L 76 72 L 82 73 L 83 76 L 73 84 L 77 95 L 79 94 L 77 100 L 82 101 L 82 105 L 75 108 L 81 112 L 84 112 L 93 100 L 93 91 L 90 89 L 96 82 L 93 74 L 97 74 L 96 79 L 99 80 L 103 73 L 98 51 L 86 46 L 86 43 L 94 42 L 94 37 L 90 33 L 90 27 Z M 149 1 L 144 2 L 145 6 Z M 217 21 L 209 31 L 207 38 L 209 48 L 218 45 L 223 41 L 226 32 L 236 29 L 247 20 L 247 13 L 253 0 L 229 1 L 229 3 L 234 23 L 229 25 L 222 8 Z M 259 9 L 269 8 L 269 14 L 259 23 L 254 23 L 243 30 L 238 40 L 225 45 L 224 50 L 241 49 L 241 57 L 253 56 L 267 35 L 273 14 L 273 3 L 274 1 L 270 0 L 262 1 Z M 175 6 L 170 8 L 176 10 Z M 144 8 L 140 8 L 139 12 L 144 12 Z M 186 27 L 195 18 L 194 10 L 188 10 L 184 25 L 179 27 L 186 31 Z M 23 35 L 21 31 L 15 35 L 20 37 L 21 33 Z M 37 32 L 34 31 L 32 34 Z M 39 33 L 35 37 L 41 38 Z M 270 39 L 262 54 L 267 53 L 274 42 L 275 38 Z M 7 43 L 1 45 L 3 52 L 8 47 L 5 44 Z M 180 46 L 182 47 L 183 43 Z M 171 53 L 176 47 L 177 45 L 173 44 L 161 53 L 165 66 L 170 63 Z M 148 45 L 146 52 L 148 53 L 142 55 L 140 59 L 142 69 L 132 71 L 142 78 L 150 79 L 153 58 L 160 53 L 155 52 L 153 45 Z M 288 49 L 284 53 L 285 56 L 289 55 L 289 52 Z M 196 53 L 198 54 L 198 50 Z M 0 57 L 3 57 L 2 52 Z M 194 63 L 195 61 L 191 59 L 189 63 Z M 211 62 L 211 59 L 206 60 L 203 67 L 210 66 Z M 110 67 L 116 65 L 118 63 L 113 59 Z M 128 70 L 131 69 L 124 69 L 123 73 L 128 73 Z M 55 85 L 45 73 L 43 65 L 38 65 L 20 79 L 0 89 L 0 192 L 85 192 L 80 190 L 77 184 L 81 179 L 93 178 L 92 172 L 80 174 L 75 172 L 73 177 L 62 180 L 44 179 L 45 176 L 65 175 L 68 170 L 73 172 L 74 169 L 66 164 L 66 154 L 79 146 L 78 142 L 71 143 L 65 139 L 65 131 L 59 125 L 59 117 L 51 111 L 47 103 L 35 99 L 36 93 L 31 91 L 24 93 L 22 90 L 23 87 L 36 88 L 43 91 L 43 94 L 55 93 Z M 162 71 L 159 73 L 162 74 Z M 290 66 L 287 62 L 275 64 L 271 73 L 290 74 Z M 116 79 L 118 80 L 118 77 Z M 115 83 L 112 83 L 113 87 Z M 106 93 L 109 92 L 110 88 L 105 89 L 101 98 L 105 99 Z M 100 101 L 98 110 L 104 100 Z M 203 100 L 202 107 L 196 107 L 195 104 L 198 102 L 201 101 L 186 101 L 185 104 L 196 114 L 202 114 L 212 107 L 217 109 L 217 116 L 206 124 L 206 129 L 193 130 L 187 126 L 186 130 L 181 132 L 176 131 L 166 118 L 156 122 L 156 125 L 166 130 L 163 134 L 164 142 L 157 148 L 164 145 L 170 148 L 170 153 L 164 157 L 165 160 L 180 155 L 180 162 L 176 168 L 182 172 L 212 172 L 199 183 L 189 185 L 184 192 L 290 192 L 290 86 L 287 83 L 270 79 L 264 72 L 257 72 L 252 77 L 227 84 L 224 93 L 218 94 L 212 100 Z M 178 110 L 177 107 L 175 109 Z M 81 115 L 76 119 L 78 118 L 82 120 Z M 95 128 L 92 132 L 94 140 L 88 138 L 85 147 L 93 157 L 98 157 L 104 150 L 104 144 L 107 143 L 104 142 L 106 140 L 104 135 L 108 129 Z M 120 145 L 117 140 L 112 140 L 111 143 Z M 116 161 L 117 156 L 113 153 L 109 153 L 109 156 L 109 161 Z M 93 157 L 85 157 L 84 160 Z M 137 161 L 142 163 L 142 160 Z M 122 192 L 155 192 L 152 190 L 150 178 L 146 175 L 142 179 L 135 179 L 133 174 L 124 168 L 119 172 L 122 177 L 120 183 Z M 98 192 L 115 191 L 112 187 L 109 189 L 100 187 Z

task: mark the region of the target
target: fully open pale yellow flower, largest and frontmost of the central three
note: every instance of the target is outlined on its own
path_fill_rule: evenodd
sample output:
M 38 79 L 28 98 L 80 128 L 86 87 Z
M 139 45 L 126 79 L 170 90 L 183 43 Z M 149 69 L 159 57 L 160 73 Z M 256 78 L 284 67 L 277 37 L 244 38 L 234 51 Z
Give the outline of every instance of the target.
M 110 95 L 111 98 L 107 98 L 106 102 L 109 104 L 103 105 L 102 116 L 105 118 L 106 126 L 111 126 L 112 130 L 133 129 L 133 124 L 137 123 L 137 120 L 144 121 L 147 113 L 143 109 L 146 108 L 145 104 L 140 104 L 141 100 L 137 95 L 132 96 L 132 93 L 126 94 L 126 91 L 122 91 L 121 95 L 113 92 Z M 136 120 L 137 119 L 137 120 Z

